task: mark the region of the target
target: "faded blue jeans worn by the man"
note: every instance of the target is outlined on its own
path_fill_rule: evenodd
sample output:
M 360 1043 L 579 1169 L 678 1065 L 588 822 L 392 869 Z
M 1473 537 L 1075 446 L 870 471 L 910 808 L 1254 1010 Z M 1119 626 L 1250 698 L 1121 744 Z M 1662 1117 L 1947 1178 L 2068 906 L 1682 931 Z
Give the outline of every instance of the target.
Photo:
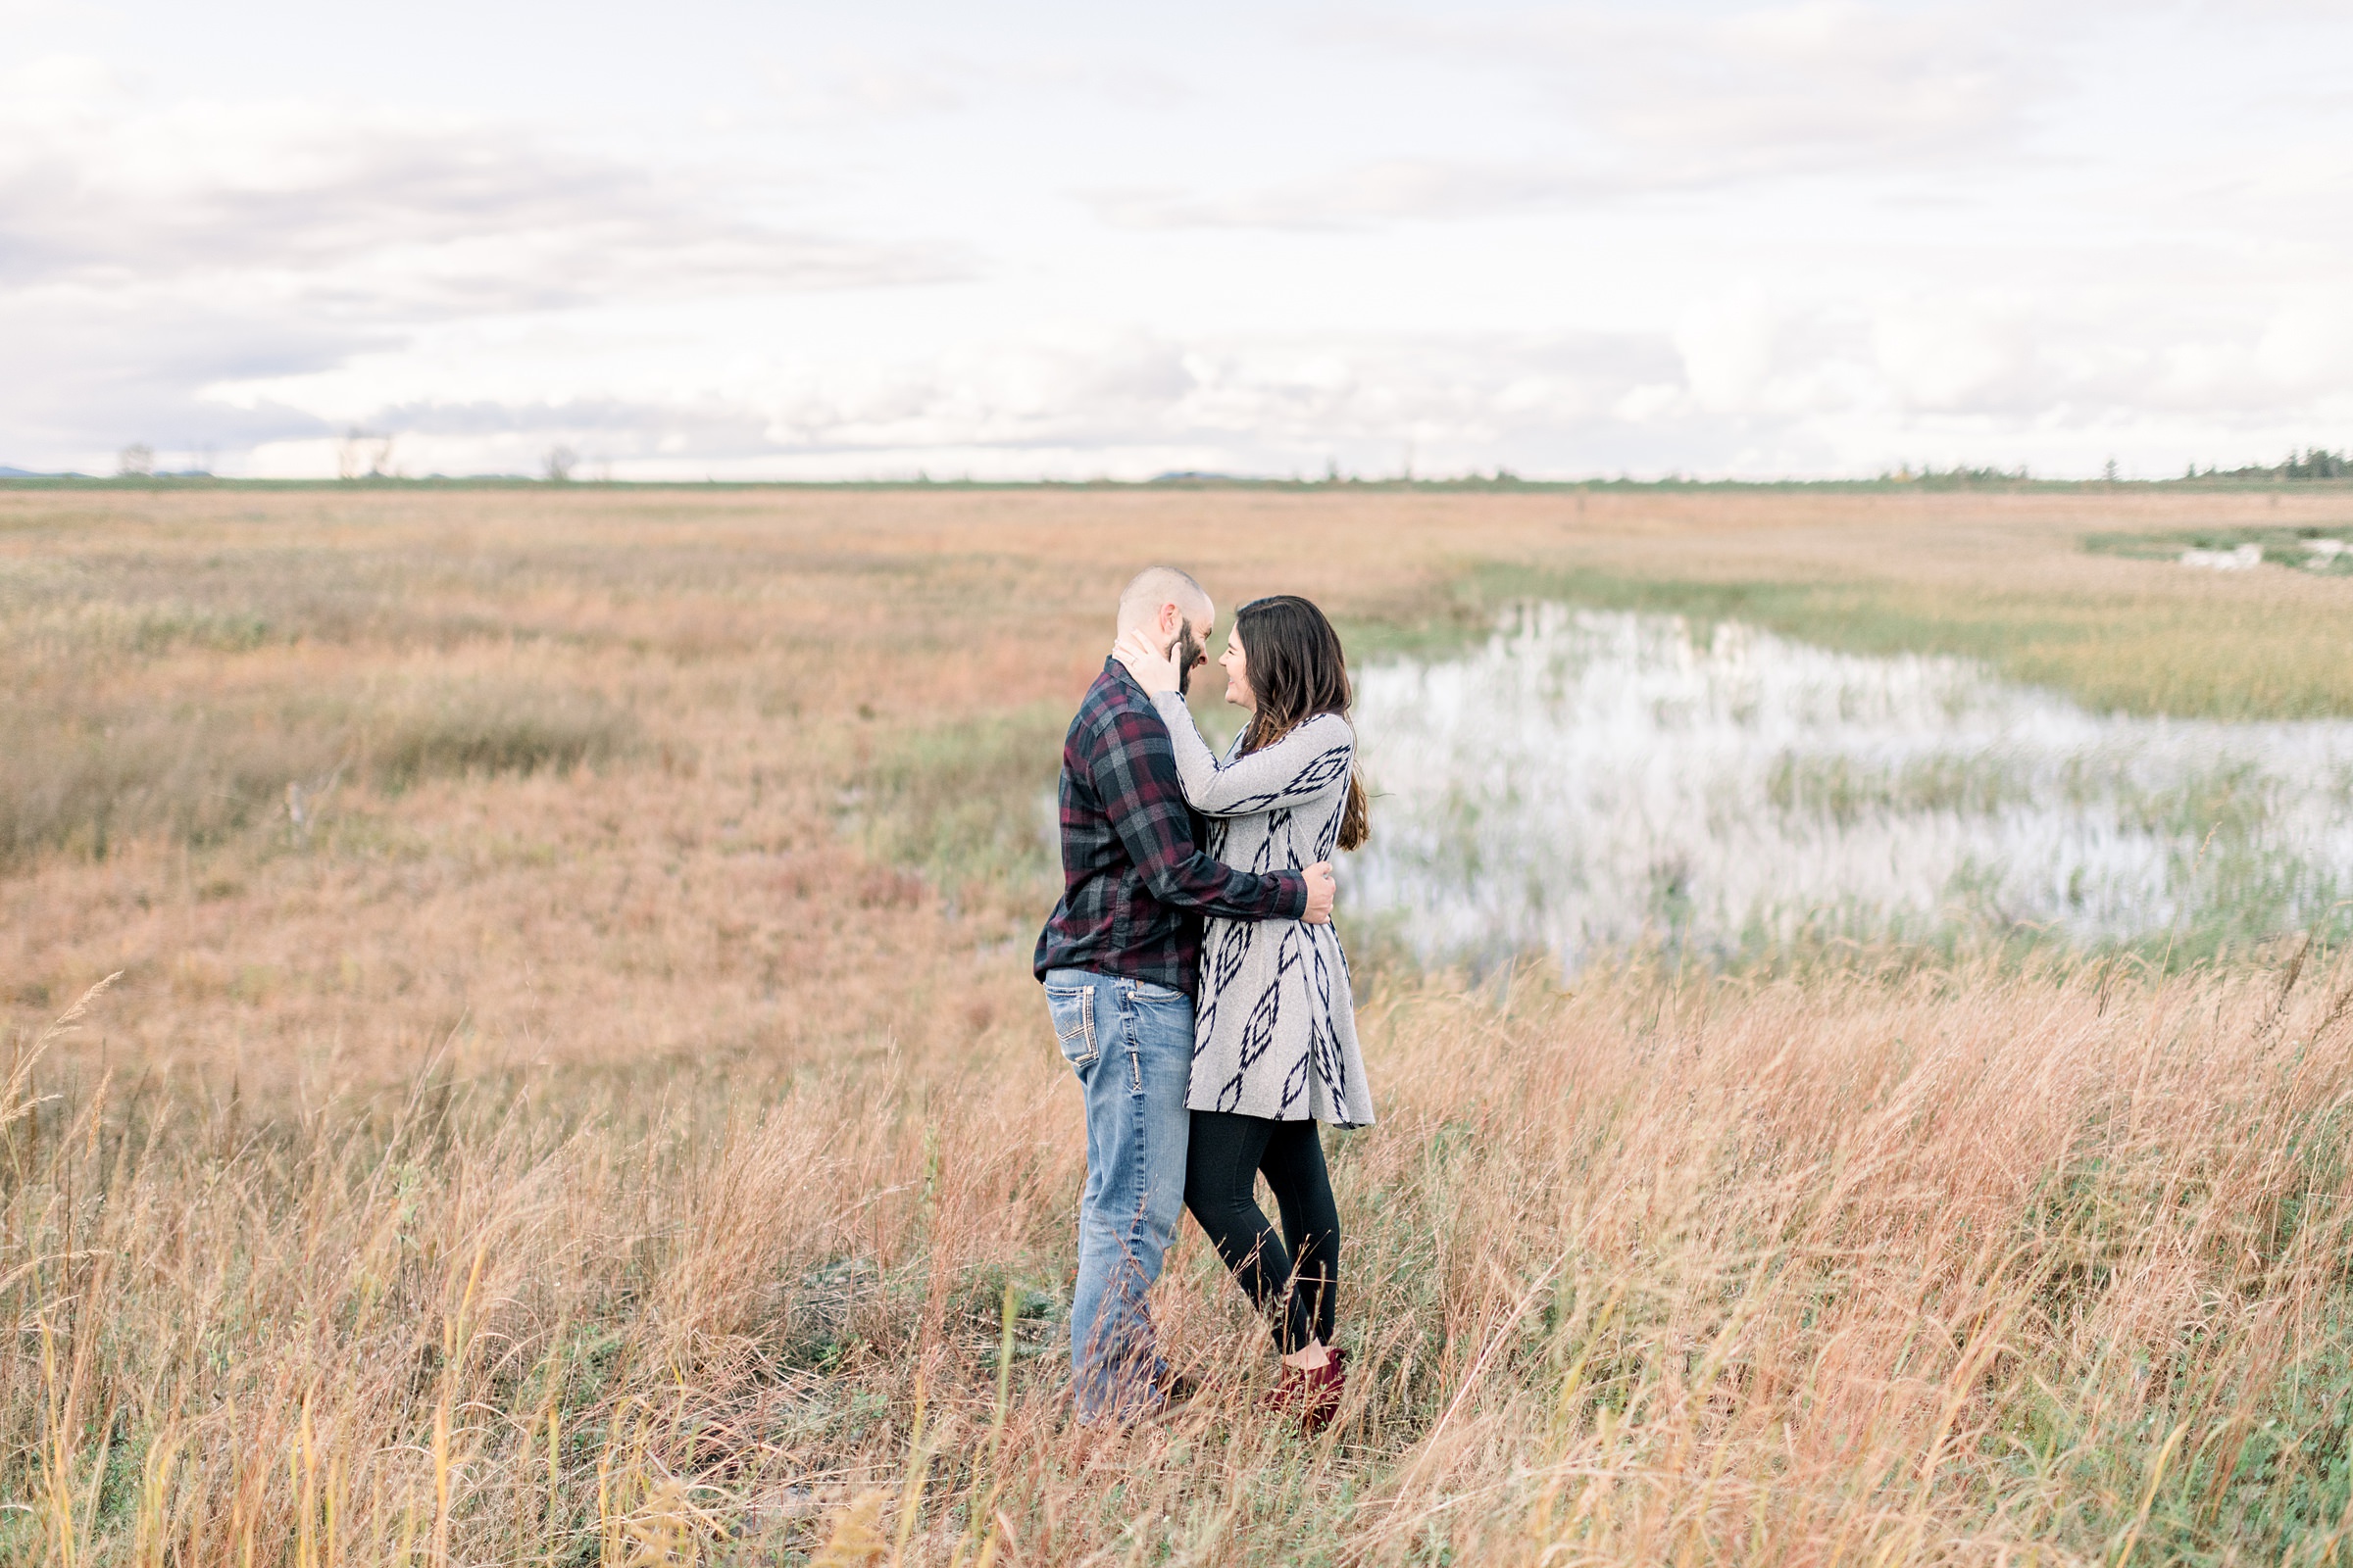
M 1054 969 L 1054 1041 L 1087 1093 L 1087 1192 L 1078 1201 L 1071 1385 L 1080 1420 L 1160 1403 L 1165 1373 L 1144 1293 L 1184 1213 L 1193 1112 L 1193 999 L 1151 980 Z

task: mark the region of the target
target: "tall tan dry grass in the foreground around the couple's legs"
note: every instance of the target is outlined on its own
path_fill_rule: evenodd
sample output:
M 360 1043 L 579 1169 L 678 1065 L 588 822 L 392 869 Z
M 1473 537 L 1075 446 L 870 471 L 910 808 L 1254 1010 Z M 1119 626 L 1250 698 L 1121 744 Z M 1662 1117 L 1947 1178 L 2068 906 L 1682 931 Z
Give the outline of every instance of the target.
M 2320 1563 L 2353 1528 L 2353 969 L 1619 969 L 1365 1025 L 1384 1121 L 1332 1140 L 1358 1371 L 1315 1441 L 1254 1410 L 1271 1352 L 1198 1237 L 1160 1312 L 1207 1392 L 1068 1422 L 1045 1048 L 424 1077 L 268 1124 L 132 1074 L 45 1100 L 21 1051 L 0 1540 Z

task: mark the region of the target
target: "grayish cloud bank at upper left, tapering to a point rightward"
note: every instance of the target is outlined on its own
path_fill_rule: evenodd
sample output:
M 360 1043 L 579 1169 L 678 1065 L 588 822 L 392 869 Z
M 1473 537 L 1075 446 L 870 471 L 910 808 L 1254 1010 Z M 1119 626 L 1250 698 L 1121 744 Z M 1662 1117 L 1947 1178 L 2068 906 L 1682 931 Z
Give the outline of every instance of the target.
M 567 150 L 513 125 L 325 103 L 127 106 L 38 63 L 0 113 L 0 284 L 231 273 L 339 315 L 551 308 L 609 294 L 939 280 L 953 247 L 744 216 L 748 193 Z M 38 92 L 68 82 L 78 92 Z M 16 82 L 9 85 L 12 89 Z

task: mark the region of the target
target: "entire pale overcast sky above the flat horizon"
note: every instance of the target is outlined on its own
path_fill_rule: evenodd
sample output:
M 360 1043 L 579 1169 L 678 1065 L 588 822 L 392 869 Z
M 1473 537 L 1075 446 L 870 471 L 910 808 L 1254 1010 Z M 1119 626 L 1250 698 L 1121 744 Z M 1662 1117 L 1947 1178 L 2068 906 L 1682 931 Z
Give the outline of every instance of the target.
M 0 38 L 21 468 L 2353 444 L 2344 0 L 0 0 Z

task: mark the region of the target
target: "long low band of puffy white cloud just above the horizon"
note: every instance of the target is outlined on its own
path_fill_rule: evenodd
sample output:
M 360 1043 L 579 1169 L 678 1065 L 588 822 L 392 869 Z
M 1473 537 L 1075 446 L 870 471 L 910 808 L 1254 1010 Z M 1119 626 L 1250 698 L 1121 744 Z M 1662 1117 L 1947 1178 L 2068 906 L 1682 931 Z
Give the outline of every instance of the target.
M 2080 473 L 2104 454 L 2177 473 L 2188 454 L 2240 461 L 2289 442 L 2341 444 L 2325 397 L 2287 404 L 2306 409 L 2311 428 L 2280 421 L 2280 383 L 2259 367 L 2264 322 L 2132 343 L 2125 313 L 2094 303 L 1889 294 L 1793 308 L 1746 284 L 1694 306 L 1673 331 L 981 336 L 932 353 L 760 357 L 699 388 L 640 395 L 534 393 L 529 367 L 544 350 L 525 339 L 459 355 L 496 388 L 485 397 L 358 402 L 374 383 L 360 355 L 358 371 L 238 388 L 238 418 L 256 435 L 311 442 L 308 456 L 278 447 L 264 461 L 313 473 L 332 465 L 334 433 L 362 425 L 395 435 L 412 473 L 527 473 L 562 442 L 621 477 L 1313 475 L 1327 461 L 1360 475 L 1508 465 L 1772 477 L 1899 461 Z M 2221 369 L 2179 395 L 2151 390 L 2167 367 L 2200 364 Z M 600 376 L 591 355 L 544 386 L 624 378 Z M 329 386 L 339 390 L 320 390 Z M 2353 400 L 2334 407 L 2353 414 Z M 294 430 L 296 409 L 318 409 L 311 435 Z M 1071 456 L 1089 451 L 1099 456 Z M 2085 463 L 2085 451 L 2101 456 Z

